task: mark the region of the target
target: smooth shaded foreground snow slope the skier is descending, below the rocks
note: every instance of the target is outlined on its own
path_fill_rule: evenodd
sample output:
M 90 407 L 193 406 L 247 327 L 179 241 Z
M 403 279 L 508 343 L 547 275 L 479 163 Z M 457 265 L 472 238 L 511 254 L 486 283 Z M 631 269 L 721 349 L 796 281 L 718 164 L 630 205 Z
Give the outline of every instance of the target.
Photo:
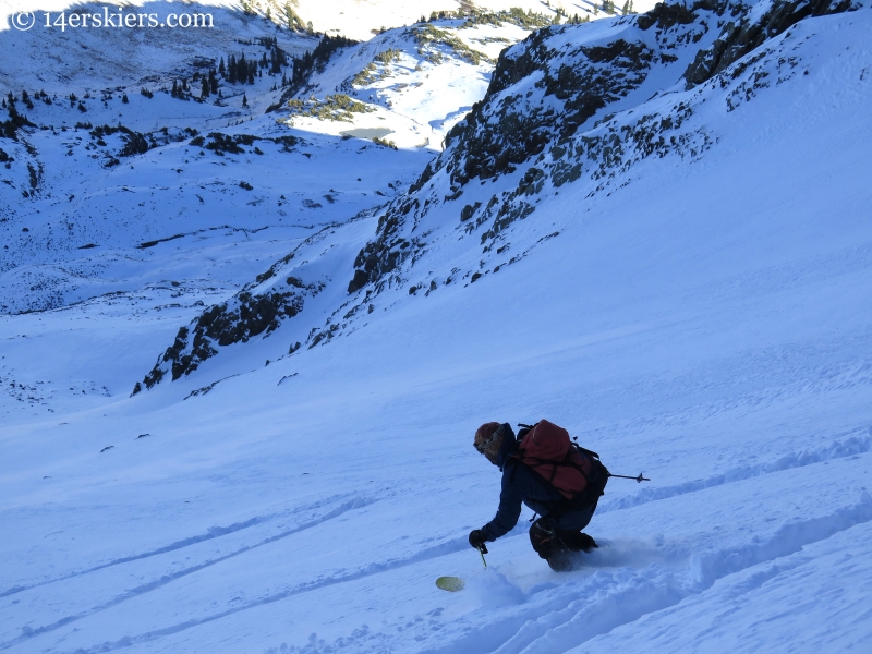
M 577 29 L 549 38 L 590 47 L 634 28 Z M 484 253 L 494 223 L 468 232 L 444 195 L 453 181 L 461 204 L 476 186 L 508 196 L 538 154 L 494 181 L 439 168 L 432 190 L 371 205 L 277 264 L 284 283 L 304 257 L 312 280 L 337 280 L 311 323 L 298 325 L 304 307 L 133 398 L 199 313 L 170 295 L 205 291 L 165 283 L 141 306 L 108 296 L 0 316 L 0 521 L 13 535 L 0 544 L 0 649 L 863 651 L 870 29 L 868 8 L 809 17 L 694 87 L 677 71 L 668 94 L 638 101 L 658 117 L 690 106 L 675 135 L 706 134 L 704 150 L 628 155 L 597 179 L 585 161 L 559 186 L 549 168 L 516 196 L 535 210 Z M 630 111 L 578 138 L 620 134 Z M 458 144 L 446 167 L 469 155 Z M 347 294 L 379 216 L 431 197 L 400 225 L 424 246 Z M 507 243 L 507 261 L 525 253 L 511 265 Z M 335 337 L 287 355 L 353 306 Z M 493 516 L 498 473 L 472 433 L 545 416 L 613 472 L 653 481 L 609 483 L 589 529 L 602 547 L 579 570 L 535 557 L 525 511 L 485 571 L 467 534 Z M 436 589 L 446 573 L 467 589 Z

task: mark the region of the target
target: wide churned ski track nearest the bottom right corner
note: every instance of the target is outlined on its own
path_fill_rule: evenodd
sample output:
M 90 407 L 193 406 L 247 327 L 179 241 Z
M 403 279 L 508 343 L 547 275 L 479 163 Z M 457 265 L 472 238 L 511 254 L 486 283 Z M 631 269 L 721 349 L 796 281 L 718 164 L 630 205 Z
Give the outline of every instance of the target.
M 574 651 L 597 635 L 701 595 L 717 582 L 742 571 L 754 573 L 734 591 L 748 592 L 746 586 L 749 583 L 762 585 L 768 579 L 808 562 L 808 557 L 791 558 L 803 547 L 870 521 L 872 496 L 863 491 L 856 504 L 825 517 L 785 524 L 765 541 L 692 555 L 686 568 L 651 564 L 642 569 L 601 569 L 581 581 L 568 581 L 534 592 L 525 603 L 513 607 L 508 615 L 502 615 L 486 628 L 469 629 L 449 645 L 422 652 L 555 654 Z M 597 554 L 592 558 L 595 559 Z M 508 640 L 507 633 L 512 634 Z M 316 652 L 300 650 L 310 651 Z

